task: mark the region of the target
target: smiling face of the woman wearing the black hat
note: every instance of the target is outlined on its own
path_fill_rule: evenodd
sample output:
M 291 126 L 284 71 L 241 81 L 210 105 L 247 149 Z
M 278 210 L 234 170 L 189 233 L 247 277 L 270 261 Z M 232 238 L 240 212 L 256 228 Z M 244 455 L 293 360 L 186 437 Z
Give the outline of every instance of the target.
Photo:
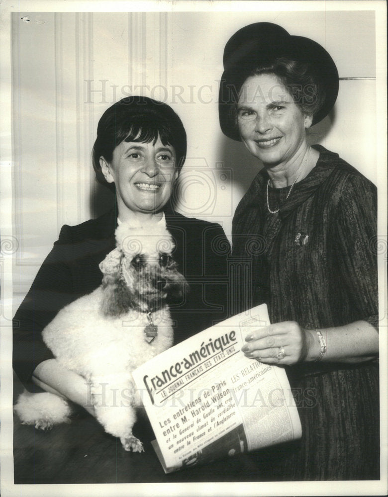
M 265 165 L 287 164 L 305 143 L 305 128 L 311 120 L 273 74 L 251 76 L 241 88 L 237 105 L 240 136 Z

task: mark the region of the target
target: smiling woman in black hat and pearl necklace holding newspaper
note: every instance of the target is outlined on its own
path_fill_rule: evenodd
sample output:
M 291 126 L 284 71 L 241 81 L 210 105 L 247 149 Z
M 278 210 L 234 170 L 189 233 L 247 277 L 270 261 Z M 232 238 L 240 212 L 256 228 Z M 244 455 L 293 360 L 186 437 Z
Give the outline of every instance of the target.
M 271 325 L 242 350 L 286 368 L 302 423 L 300 440 L 250 457 L 260 479 L 379 479 L 376 187 L 306 140 L 335 103 L 336 66 L 255 23 L 230 38 L 224 69 L 221 129 L 264 166 L 235 212 L 233 253 L 251 261 L 245 307 L 266 302 Z

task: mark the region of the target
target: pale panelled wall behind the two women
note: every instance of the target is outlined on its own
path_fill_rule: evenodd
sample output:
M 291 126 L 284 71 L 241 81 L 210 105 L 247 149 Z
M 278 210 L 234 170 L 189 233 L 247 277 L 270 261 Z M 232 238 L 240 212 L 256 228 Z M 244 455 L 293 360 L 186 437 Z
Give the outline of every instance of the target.
M 251 22 L 276 22 L 326 47 L 340 78 L 350 79 L 341 80 L 333 112 L 310 140 L 377 181 L 373 11 L 28 16 L 25 22 L 14 13 L 11 33 L 13 216 L 20 244 L 15 305 L 61 226 L 94 217 L 110 200 L 94 180 L 90 152 L 99 116 L 128 94 L 142 91 L 181 116 L 188 159 L 180 210 L 216 220 L 230 235 L 234 209 L 259 165 L 219 129 L 218 80 L 226 41 Z

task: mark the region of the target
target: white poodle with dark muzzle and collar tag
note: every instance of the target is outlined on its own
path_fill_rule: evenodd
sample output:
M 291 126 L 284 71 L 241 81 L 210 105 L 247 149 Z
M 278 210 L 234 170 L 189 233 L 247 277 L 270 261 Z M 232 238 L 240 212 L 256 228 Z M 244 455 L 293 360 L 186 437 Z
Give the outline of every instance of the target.
M 172 345 L 166 300 L 187 287 L 171 256 L 171 235 L 160 224 L 152 233 L 135 223 L 120 224 L 116 248 L 99 265 L 101 285 L 64 307 L 42 332 L 58 361 L 88 382 L 105 431 L 134 452 L 143 445 L 132 434 L 141 405 L 132 371 Z M 71 414 L 66 400 L 51 393 L 25 392 L 15 411 L 24 424 L 41 429 L 69 422 Z

